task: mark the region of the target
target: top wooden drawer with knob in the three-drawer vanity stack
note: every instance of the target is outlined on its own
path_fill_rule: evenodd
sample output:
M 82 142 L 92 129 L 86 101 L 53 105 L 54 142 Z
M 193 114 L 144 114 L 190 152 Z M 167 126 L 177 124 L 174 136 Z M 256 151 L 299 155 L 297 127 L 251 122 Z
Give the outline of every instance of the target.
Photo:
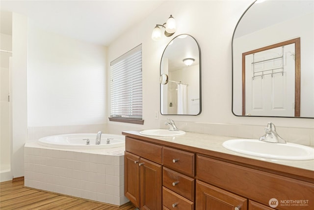
M 163 165 L 194 177 L 195 154 L 172 148 L 163 148 Z

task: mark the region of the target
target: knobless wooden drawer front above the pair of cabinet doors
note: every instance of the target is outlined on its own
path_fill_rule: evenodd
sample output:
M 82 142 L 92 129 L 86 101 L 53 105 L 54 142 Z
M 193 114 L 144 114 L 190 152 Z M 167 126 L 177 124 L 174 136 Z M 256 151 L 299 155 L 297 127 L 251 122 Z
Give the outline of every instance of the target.
M 162 164 L 162 146 L 126 137 L 126 151 Z

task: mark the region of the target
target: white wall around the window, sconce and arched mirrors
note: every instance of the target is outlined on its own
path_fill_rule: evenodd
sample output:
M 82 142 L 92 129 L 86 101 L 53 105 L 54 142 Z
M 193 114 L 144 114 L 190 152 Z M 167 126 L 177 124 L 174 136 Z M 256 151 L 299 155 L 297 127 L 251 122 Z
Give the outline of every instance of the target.
M 142 43 L 144 125 L 107 120 L 108 129 L 113 133 L 121 133 L 130 129 L 157 128 L 163 120 L 169 118 L 159 115 L 159 119 L 155 120 L 154 112 L 159 111 L 160 106 L 160 59 L 172 37 L 163 37 L 161 41 L 156 42 L 151 39 L 151 32 L 156 24 L 164 23 L 170 14 L 177 22 L 175 35 L 181 33 L 192 35 L 202 52 L 202 113 L 199 116 L 171 116 L 173 120 L 195 122 L 196 126 L 200 123 L 265 126 L 267 121 L 272 121 L 277 126 L 313 129 L 313 119 L 248 118 L 232 114 L 232 35 L 237 21 L 251 3 L 251 0 L 166 1 L 145 20 L 118 37 L 108 47 L 108 61 Z M 313 134 L 311 135 L 313 138 Z

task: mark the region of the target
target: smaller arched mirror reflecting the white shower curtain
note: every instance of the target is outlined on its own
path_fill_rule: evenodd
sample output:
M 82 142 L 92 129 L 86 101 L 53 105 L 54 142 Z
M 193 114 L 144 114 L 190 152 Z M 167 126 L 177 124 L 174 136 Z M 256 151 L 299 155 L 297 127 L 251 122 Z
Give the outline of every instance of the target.
M 201 113 L 201 51 L 188 34 L 176 36 L 165 48 L 160 61 L 160 113 Z

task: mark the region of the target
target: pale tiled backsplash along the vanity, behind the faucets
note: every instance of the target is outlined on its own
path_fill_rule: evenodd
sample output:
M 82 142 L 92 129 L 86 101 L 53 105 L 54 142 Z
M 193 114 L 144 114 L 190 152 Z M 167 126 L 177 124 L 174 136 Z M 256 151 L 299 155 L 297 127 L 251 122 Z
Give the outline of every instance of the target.
M 160 120 L 160 128 L 168 129 L 167 120 Z M 245 139 L 259 139 L 265 133 L 266 124 L 227 124 L 203 123 L 175 120 L 180 130 L 194 133 L 204 133 L 219 136 L 231 136 Z M 314 128 L 280 127 L 276 125 L 277 133 L 289 143 L 314 146 Z

